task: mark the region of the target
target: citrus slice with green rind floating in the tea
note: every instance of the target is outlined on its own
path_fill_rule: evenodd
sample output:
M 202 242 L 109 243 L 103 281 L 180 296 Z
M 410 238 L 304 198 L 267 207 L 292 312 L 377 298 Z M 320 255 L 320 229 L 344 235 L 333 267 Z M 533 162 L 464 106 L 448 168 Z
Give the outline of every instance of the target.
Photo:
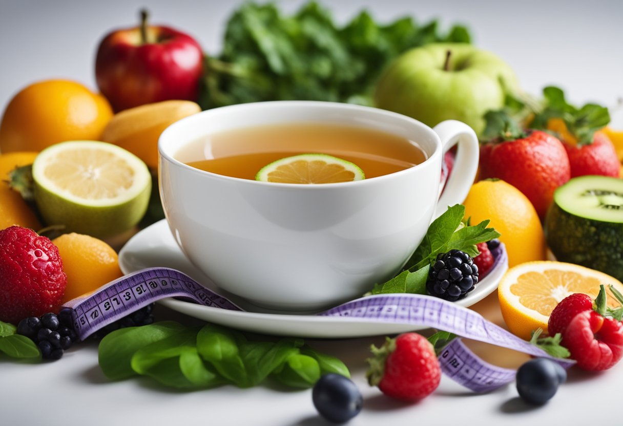
M 356 164 L 328 154 L 300 154 L 273 161 L 255 175 L 256 181 L 325 184 L 365 179 Z

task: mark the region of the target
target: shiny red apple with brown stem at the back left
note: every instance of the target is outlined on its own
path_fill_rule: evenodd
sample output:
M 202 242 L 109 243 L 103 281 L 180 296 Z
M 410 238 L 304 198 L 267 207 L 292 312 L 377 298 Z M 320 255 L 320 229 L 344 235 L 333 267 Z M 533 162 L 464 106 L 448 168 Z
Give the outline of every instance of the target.
M 110 32 L 100 42 L 95 78 L 115 111 L 163 100 L 197 100 L 203 67 L 201 47 L 188 34 L 165 26 Z

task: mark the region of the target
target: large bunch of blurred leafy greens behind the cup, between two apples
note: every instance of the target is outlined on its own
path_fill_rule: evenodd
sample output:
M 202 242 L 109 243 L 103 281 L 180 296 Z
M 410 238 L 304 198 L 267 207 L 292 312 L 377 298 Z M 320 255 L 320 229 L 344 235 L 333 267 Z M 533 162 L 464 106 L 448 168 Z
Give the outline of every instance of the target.
M 411 47 L 470 42 L 467 28 L 442 35 L 437 21 L 411 17 L 377 24 L 363 11 L 343 27 L 312 1 L 293 16 L 273 3 L 247 2 L 227 22 L 223 49 L 206 56 L 204 109 L 267 100 L 325 100 L 372 105 L 384 67 Z

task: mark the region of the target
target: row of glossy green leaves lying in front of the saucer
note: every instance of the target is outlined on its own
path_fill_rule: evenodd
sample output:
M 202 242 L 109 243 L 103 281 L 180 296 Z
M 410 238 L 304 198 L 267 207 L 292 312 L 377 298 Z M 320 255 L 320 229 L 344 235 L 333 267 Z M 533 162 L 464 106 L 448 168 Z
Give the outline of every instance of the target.
M 100 367 L 110 379 L 142 374 L 179 389 L 250 387 L 271 374 L 295 387 L 313 386 L 324 372 L 350 377 L 343 362 L 304 346 L 302 339 L 248 337 L 214 324 L 197 329 L 173 322 L 108 334 L 100 343 Z

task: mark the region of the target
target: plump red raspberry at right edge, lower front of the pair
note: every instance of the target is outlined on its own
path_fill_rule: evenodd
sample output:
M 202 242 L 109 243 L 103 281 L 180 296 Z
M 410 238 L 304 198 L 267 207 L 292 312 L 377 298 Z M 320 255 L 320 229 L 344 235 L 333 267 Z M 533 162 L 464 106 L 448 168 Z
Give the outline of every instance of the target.
M 581 369 L 607 370 L 623 356 L 623 324 L 592 310 L 583 311 L 564 329 L 561 343 Z

